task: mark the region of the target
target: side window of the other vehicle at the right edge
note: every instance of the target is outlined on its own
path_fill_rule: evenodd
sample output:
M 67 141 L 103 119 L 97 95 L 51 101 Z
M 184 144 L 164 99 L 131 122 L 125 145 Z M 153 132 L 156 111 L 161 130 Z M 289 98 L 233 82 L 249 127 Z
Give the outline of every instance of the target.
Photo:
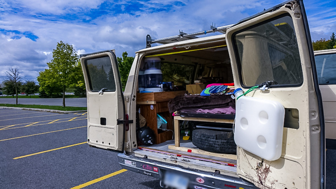
M 320 85 L 336 84 L 336 54 L 316 55 L 315 63 Z

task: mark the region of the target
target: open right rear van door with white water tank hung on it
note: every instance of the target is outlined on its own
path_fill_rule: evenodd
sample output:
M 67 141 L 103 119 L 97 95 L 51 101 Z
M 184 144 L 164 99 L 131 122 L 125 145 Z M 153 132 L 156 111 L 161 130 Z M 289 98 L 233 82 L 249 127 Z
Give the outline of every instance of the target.
M 236 107 L 235 130 L 241 131 L 235 133 L 241 139 L 237 174 L 259 188 L 324 188 L 324 115 L 302 1 L 287 1 L 240 21 L 227 30 L 226 41 L 235 87 L 246 92 L 266 82 L 260 87 L 268 89 L 257 88 L 246 98 L 275 102 L 285 111 L 278 132 L 269 120 L 277 115 L 260 111 L 262 103 Z M 241 111 L 248 116 L 239 118 Z M 280 137 L 280 148 L 265 131 Z M 264 150 L 269 148 L 274 149 Z

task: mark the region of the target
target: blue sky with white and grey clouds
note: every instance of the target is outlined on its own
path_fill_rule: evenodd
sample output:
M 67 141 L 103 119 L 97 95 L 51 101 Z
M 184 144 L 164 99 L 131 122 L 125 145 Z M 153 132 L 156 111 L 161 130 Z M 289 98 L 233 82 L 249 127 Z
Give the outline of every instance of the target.
M 47 68 L 56 43 L 78 54 L 116 49 L 129 56 L 154 39 L 236 23 L 282 0 L 0 0 L 0 81 L 9 67 L 25 79 Z M 304 1 L 312 40 L 336 32 L 336 0 Z

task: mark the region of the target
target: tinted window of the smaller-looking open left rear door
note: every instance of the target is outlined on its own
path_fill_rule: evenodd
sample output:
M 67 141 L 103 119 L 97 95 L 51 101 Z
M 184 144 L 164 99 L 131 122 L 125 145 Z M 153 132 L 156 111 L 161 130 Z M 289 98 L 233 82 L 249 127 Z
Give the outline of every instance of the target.
M 102 88 L 107 88 L 105 91 L 116 90 L 116 82 L 109 56 L 87 59 L 84 64 L 92 92 L 98 92 Z

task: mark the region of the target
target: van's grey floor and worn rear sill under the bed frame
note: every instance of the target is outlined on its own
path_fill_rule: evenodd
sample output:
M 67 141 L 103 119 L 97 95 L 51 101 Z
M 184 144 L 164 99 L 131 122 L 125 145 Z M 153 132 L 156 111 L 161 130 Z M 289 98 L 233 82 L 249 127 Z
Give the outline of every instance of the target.
M 179 147 L 169 149 L 168 146 L 172 145 L 174 147 L 174 144 L 174 140 L 169 140 L 151 146 L 138 146 L 139 148 L 134 151 L 134 154 L 138 157 L 146 157 L 148 159 L 166 162 L 174 165 L 180 165 L 187 168 L 198 169 L 208 172 L 219 171 L 222 174 L 237 177 L 236 154 L 214 153 L 204 150 L 201 150 L 203 154 L 200 154 L 175 150 L 175 148 L 179 149 Z M 191 140 L 180 140 L 180 146 L 180 148 L 183 148 L 183 150 L 199 150 L 199 148 L 193 145 Z M 229 158 L 225 158 L 226 156 Z

